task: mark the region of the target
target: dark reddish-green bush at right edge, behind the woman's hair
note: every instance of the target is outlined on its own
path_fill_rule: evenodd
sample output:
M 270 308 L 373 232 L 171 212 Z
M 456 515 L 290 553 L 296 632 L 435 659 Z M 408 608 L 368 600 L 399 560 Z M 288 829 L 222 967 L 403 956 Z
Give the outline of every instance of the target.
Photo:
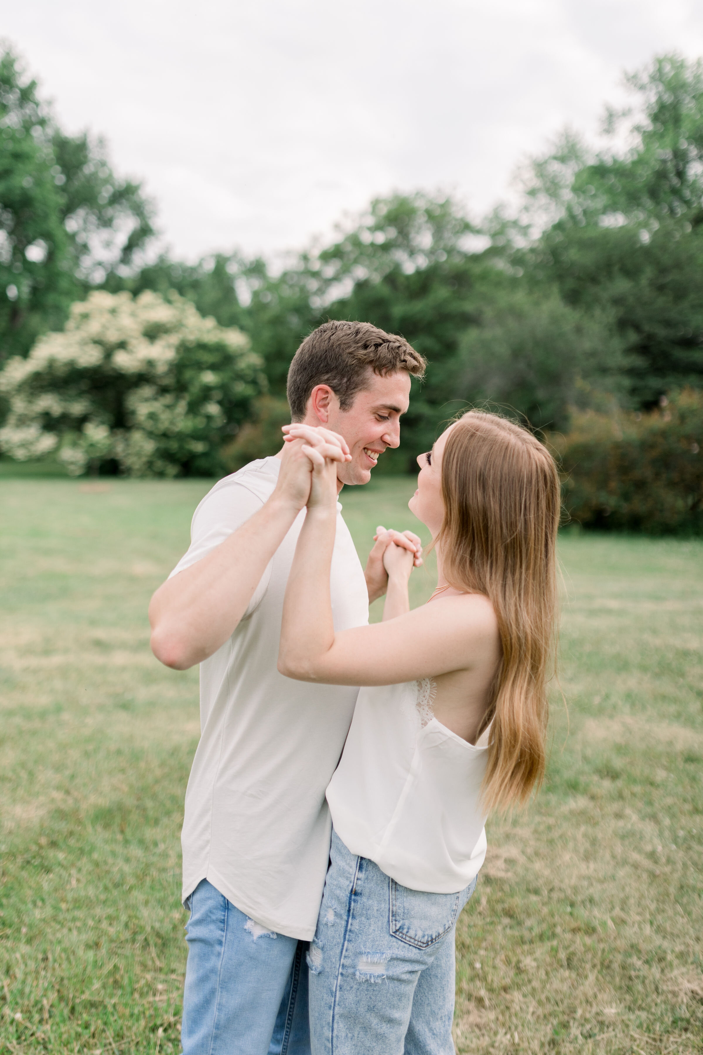
M 585 528 L 703 533 L 703 392 L 685 388 L 650 414 L 575 413 L 551 436 L 564 503 Z

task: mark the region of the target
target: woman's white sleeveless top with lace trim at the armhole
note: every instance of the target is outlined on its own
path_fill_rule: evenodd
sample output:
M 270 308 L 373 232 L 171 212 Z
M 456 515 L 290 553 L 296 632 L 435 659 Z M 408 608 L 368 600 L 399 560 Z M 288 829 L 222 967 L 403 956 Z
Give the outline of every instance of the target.
M 432 715 L 429 679 L 362 689 L 327 789 L 345 846 L 403 886 L 463 890 L 486 857 L 479 805 L 488 733 L 468 744 Z

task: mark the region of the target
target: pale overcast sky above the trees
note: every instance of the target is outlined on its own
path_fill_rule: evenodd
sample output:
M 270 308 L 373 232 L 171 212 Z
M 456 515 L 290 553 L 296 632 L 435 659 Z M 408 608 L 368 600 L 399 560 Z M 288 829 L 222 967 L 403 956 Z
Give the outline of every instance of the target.
M 480 215 L 623 69 L 703 55 L 701 0 L 0 0 L 69 131 L 102 134 L 188 258 L 275 253 L 393 190 Z

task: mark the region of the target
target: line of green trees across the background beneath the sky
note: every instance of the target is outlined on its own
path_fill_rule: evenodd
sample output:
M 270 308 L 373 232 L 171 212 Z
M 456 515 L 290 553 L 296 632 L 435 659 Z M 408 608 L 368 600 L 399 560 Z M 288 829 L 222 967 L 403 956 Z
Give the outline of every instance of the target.
M 290 360 L 330 318 L 403 333 L 428 360 L 387 471 L 409 467 L 467 404 L 563 435 L 580 415 L 664 413 L 703 389 L 703 63 L 660 56 L 627 83 L 631 106 L 607 111 L 605 146 L 563 133 L 523 167 L 514 209 L 476 220 L 451 196 L 394 194 L 276 269 L 239 251 L 143 263 L 155 209 L 142 188 L 115 175 L 100 140 L 64 134 L 6 52 L 0 357 L 30 354 L 92 290 L 175 291 L 243 332 L 266 376 L 222 465 L 271 442 Z

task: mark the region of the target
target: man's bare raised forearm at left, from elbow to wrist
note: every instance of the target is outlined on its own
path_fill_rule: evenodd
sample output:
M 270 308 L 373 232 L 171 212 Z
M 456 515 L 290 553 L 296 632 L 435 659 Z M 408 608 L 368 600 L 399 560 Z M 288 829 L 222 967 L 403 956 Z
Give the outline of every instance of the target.
M 149 607 L 157 659 L 187 670 L 224 644 L 297 514 L 273 495 L 212 553 L 159 587 Z

